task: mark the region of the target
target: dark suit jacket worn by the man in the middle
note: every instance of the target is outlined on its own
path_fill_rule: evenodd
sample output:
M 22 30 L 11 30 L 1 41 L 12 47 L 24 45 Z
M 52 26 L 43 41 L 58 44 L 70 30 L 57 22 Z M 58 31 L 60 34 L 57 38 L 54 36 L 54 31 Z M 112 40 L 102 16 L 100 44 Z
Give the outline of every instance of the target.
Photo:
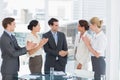
M 57 71 L 64 71 L 67 63 L 67 55 L 61 57 L 58 53 L 61 50 L 67 51 L 67 42 L 64 33 L 57 32 L 58 42 L 55 44 L 52 32 L 49 31 L 43 34 L 44 38 L 48 38 L 48 42 L 44 45 L 44 51 L 46 52 L 45 72 L 49 73 L 50 67 L 54 67 Z M 58 60 L 56 60 L 58 57 Z

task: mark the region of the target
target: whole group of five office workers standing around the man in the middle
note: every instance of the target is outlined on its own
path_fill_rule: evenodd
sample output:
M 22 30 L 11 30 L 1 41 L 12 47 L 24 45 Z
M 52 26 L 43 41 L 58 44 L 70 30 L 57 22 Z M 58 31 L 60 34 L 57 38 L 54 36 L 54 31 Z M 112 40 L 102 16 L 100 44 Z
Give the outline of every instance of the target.
M 17 80 L 19 71 L 19 56 L 27 54 L 29 56 L 29 69 L 32 74 L 42 74 L 43 65 L 42 48 L 46 53 L 44 72 L 50 73 L 50 67 L 55 71 L 64 71 L 67 64 L 68 47 L 65 34 L 58 31 L 59 21 L 51 18 L 48 25 L 51 30 L 44 33 L 42 38 L 38 35 L 40 23 L 32 20 L 28 24 L 31 31 L 26 37 L 26 46 L 20 47 L 15 36 L 12 34 L 15 29 L 15 19 L 7 17 L 3 19 L 4 32 L 0 38 L 2 51 L 2 80 Z M 95 80 L 100 80 L 100 76 L 105 75 L 105 48 L 106 37 L 101 30 L 102 21 L 97 17 L 90 20 L 90 25 L 86 20 L 79 20 L 78 31 L 80 34 L 75 40 L 75 68 L 88 69 L 88 63 L 92 60 Z M 95 33 L 94 37 L 88 34 L 90 29 Z

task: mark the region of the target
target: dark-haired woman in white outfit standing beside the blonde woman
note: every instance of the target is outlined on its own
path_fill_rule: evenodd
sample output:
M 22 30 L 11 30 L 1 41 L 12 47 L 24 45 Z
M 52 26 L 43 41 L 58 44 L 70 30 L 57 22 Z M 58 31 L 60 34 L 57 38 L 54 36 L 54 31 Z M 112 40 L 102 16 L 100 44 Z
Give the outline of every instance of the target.
M 75 40 L 75 69 L 88 70 L 88 64 L 90 62 L 90 53 L 82 40 L 83 36 L 88 36 L 87 30 L 89 30 L 88 22 L 86 20 L 79 20 L 78 22 L 78 35 Z

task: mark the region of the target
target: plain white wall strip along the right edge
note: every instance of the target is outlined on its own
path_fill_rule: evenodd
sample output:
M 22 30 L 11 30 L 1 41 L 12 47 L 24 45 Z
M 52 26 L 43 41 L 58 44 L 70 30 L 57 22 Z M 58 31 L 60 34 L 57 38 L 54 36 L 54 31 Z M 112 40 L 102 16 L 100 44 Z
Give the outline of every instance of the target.
M 107 80 L 119 79 L 120 0 L 107 0 Z

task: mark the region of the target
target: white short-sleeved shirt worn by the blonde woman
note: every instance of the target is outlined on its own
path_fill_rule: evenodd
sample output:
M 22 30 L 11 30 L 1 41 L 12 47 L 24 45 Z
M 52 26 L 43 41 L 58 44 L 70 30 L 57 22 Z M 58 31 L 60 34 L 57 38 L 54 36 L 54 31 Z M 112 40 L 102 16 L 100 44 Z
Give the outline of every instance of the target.
M 94 35 L 94 38 L 91 40 L 91 46 L 95 51 L 100 53 L 100 56 L 105 56 L 105 49 L 107 46 L 107 38 L 103 31 Z M 94 56 L 94 55 L 92 54 L 92 56 Z

